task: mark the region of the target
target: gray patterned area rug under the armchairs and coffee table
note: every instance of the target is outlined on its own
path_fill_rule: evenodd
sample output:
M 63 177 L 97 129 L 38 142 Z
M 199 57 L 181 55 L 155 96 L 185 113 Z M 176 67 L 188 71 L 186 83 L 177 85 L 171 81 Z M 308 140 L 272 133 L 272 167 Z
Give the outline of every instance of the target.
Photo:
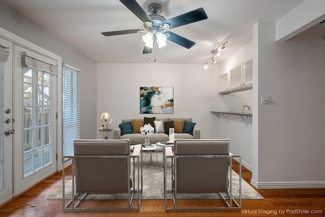
M 170 162 L 169 162 L 170 164 Z M 169 167 L 168 177 L 171 177 L 171 169 Z M 239 175 L 232 171 L 233 178 L 233 197 L 239 198 Z M 137 184 L 137 183 L 136 183 Z M 258 192 L 256 192 L 244 179 L 241 180 L 242 184 L 242 199 L 264 199 Z M 168 178 L 168 189 L 171 189 L 171 178 Z M 72 180 L 65 185 L 65 199 L 72 197 Z M 116 199 L 116 195 L 111 194 L 89 194 L 86 200 L 109 200 Z M 125 195 L 119 195 L 117 198 L 124 199 Z M 168 194 L 171 199 L 171 194 Z M 195 199 L 218 199 L 217 194 L 180 194 L 179 199 L 195 198 Z M 164 167 L 163 155 L 161 152 L 152 153 L 150 161 L 150 153 L 143 153 L 143 190 L 142 199 L 144 200 L 162 200 L 164 199 Z M 51 195 L 48 200 L 62 200 L 62 188 L 55 194 Z

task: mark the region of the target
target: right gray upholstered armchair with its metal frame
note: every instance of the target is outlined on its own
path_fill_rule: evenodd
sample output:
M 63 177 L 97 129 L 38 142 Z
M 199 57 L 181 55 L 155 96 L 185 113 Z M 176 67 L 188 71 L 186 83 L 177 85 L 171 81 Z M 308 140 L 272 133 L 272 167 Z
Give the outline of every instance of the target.
M 172 147 L 164 152 L 165 178 L 165 210 L 172 209 L 220 209 L 241 208 L 241 170 L 239 172 L 239 199 L 232 195 L 232 158 L 237 157 L 241 166 L 241 157 L 229 152 L 229 139 L 191 139 L 175 140 L 174 153 Z M 167 177 L 167 159 L 172 158 L 172 174 Z M 169 175 L 170 176 L 170 175 Z M 167 178 L 172 179 L 171 187 L 167 186 Z M 171 190 L 168 190 L 171 189 Z M 170 196 L 171 193 L 171 197 Z M 186 196 L 185 196 L 186 195 Z M 198 197 L 200 195 L 200 197 Z M 177 199 L 222 200 L 213 207 L 178 206 Z M 173 200 L 173 206 L 169 198 Z M 184 198 L 185 197 L 185 198 Z M 216 205 L 217 204 L 217 205 Z

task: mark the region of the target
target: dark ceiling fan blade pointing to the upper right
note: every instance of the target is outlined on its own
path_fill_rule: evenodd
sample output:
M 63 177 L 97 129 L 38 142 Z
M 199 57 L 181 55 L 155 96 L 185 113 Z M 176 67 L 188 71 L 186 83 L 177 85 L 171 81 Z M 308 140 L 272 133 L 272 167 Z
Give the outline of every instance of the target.
M 192 22 L 198 22 L 200 20 L 205 20 L 207 19 L 208 16 L 205 13 L 203 8 L 198 8 L 193 11 L 189 11 L 185 14 L 170 18 L 166 20 L 164 23 L 168 23 L 171 27 L 170 28 L 175 28 L 181 25 L 186 25 Z

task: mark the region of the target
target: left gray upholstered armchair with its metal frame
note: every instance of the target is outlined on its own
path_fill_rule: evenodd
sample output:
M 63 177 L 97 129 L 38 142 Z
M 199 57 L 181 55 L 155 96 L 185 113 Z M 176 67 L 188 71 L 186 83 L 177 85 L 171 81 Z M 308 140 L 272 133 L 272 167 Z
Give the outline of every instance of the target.
M 76 193 L 66 204 L 63 170 L 63 211 L 139 211 L 142 196 L 140 150 L 141 147 L 135 148 L 131 154 L 128 139 L 74 140 L 74 156 L 64 156 L 63 166 L 64 160 L 72 159 L 72 192 Z M 136 174 L 135 159 L 137 159 Z M 105 196 L 107 200 L 118 202 L 113 207 L 103 202 L 96 203 L 95 207 L 91 205 L 89 207 L 85 199 L 90 194 Z M 96 197 L 94 198 L 96 200 Z M 134 204 L 133 199 L 137 201 Z M 105 204 L 103 207 L 97 206 L 102 203 Z

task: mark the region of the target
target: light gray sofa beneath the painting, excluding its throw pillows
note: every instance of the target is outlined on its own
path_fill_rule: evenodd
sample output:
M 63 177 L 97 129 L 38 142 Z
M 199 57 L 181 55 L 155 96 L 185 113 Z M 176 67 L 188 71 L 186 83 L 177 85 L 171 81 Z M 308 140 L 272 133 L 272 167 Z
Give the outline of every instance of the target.
M 136 118 L 142 119 L 142 126 L 144 125 L 144 118 Z M 163 122 L 167 121 L 174 121 L 174 126 L 176 120 L 186 120 L 188 122 L 192 122 L 192 118 L 155 118 L 155 120 L 162 120 Z M 132 121 L 132 119 L 122 119 L 122 123 Z M 154 127 L 154 126 L 152 126 Z M 189 133 L 175 133 L 175 139 L 200 139 L 200 129 L 193 128 L 191 134 Z M 113 130 L 113 138 L 114 139 L 129 139 L 131 145 L 135 144 L 143 144 L 144 143 L 144 136 L 141 133 L 128 133 L 121 136 L 121 129 L 117 128 Z M 167 142 L 169 140 L 169 134 L 166 133 L 153 133 L 150 134 L 150 143 L 155 144 L 157 142 Z

